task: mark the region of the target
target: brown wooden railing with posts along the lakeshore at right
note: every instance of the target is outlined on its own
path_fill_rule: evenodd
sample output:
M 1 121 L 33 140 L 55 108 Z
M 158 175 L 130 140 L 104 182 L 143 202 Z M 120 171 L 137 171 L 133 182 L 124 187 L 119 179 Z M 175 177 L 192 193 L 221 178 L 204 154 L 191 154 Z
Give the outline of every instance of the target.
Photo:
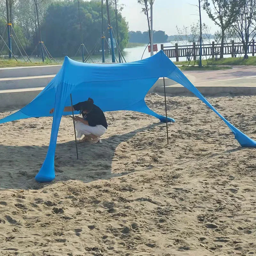
M 196 60 L 196 57 L 200 54 L 200 48 L 196 43 L 191 45 L 178 45 L 175 46 L 164 46 L 161 44 L 161 50 L 169 58 L 176 58 L 176 61 L 179 61 L 179 57 L 186 57 L 187 60 Z M 212 56 L 212 58 L 217 58 L 221 52 L 221 44 L 204 44 L 202 45 L 202 56 Z M 232 41 L 231 43 L 224 44 L 223 46 L 223 55 L 231 55 L 231 57 L 239 56 L 244 53 L 244 47 L 241 43 L 235 43 Z M 252 56 L 256 53 L 256 45 L 254 39 L 248 46 L 248 54 L 252 54 Z

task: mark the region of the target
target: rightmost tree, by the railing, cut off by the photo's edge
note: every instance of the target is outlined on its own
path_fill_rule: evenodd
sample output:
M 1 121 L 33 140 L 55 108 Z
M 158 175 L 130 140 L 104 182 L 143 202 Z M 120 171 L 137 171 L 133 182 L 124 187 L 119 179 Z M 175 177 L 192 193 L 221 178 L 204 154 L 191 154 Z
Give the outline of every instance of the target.
M 236 20 L 232 28 L 237 37 L 240 38 L 244 48 L 244 59 L 248 59 L 248 45 L 250 37 L 256 35 L 256 1 L 255 0 L 237 0 L 240 4 Z

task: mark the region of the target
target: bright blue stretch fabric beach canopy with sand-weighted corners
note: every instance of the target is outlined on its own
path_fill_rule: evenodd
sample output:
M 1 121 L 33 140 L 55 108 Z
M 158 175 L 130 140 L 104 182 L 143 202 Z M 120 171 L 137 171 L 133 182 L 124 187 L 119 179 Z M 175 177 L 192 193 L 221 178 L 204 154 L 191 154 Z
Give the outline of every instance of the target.
M 166 122 L 165 116 L 156 114 L 145 103 L 147 92 L 160 77 L 168 77 L 194 93 L 228 125 L 242 147 L 256 147 L 256 141 L 221 116 L 162 50 L 148 59 L 109 65 L 87 64 L 65 57 L 62 68 L 44 90 L 27 106 L 1 119 L 0 124 L 29 117 L 52 116 L 49 111 L 55 108 L 48 152 L 35 177 L 38 182 L 49 182 L 55 178 L 54 156 L 61 116 L 72 114 L 63 113 L 65 106 L 71 106 L 70 93 L 73 104 L 90 97 L 104 112 L 131 110 Z M 78 114 L 77 111 L 75 113 Z M 168 118 L 167 121 L 175 120 Z

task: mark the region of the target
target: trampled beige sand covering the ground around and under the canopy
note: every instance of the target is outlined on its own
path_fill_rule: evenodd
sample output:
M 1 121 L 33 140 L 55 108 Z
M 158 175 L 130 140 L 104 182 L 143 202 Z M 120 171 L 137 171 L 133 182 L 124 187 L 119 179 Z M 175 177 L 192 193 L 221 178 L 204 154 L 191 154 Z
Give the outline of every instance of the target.
M 256 139 L 256 96 L 209 101 Z M 147 97 L 164 114 L 164 98 Z M 0 125 L 0 255 L 251 255 L 256 253 L 256 154 L 200 100 L 168 97 L 165 124 L 111 112 L 102 144 L 78 145 L 63 117 L 56 179 L 34 177 L 52 118 Z M 0 117 L 10 112 L 0 113 Z

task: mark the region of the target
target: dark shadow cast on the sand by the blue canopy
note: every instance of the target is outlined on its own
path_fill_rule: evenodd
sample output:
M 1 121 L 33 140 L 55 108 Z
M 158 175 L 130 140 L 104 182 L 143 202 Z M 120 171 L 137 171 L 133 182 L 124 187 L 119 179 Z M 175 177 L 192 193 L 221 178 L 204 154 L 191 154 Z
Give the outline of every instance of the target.
M 91 182 L 98 179 L 110 179 L 122 176 L 134 170 L 124 164 L 112 173 L 112 162 L 129 157 L 125 155 L 125 145 L 121 148 L 122 156 L 116 156 L 116 148 L 127 142 L 137 133 L 150 130 L 161 123 L 151 124 L 122 135 L 102 139 L 95 145 L 78 144 L 79 160 L 76 159 L 75 141 L 58 143 L 55 153 L 56 178 L 51 183 L 67 180 Z M 0 189 L 39 189 L 34 177 L 43 164 L 48 146 L 6 146 L 0 145 Z M 117 162 L 116 162 L 117 161 Z M 124 163 L 124 160 L 123 162 Z

